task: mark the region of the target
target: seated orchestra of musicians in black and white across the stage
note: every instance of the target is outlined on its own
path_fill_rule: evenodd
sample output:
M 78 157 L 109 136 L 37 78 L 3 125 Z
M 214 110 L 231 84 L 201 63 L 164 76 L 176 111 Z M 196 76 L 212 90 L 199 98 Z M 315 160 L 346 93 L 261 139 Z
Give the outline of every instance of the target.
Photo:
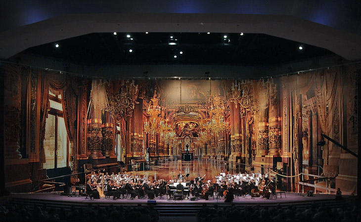
M 189 174 L 187 174 L 188 176 Z M 186 181 L 186 177 L 179 172 L 176 180 L 166 181 L 164 179 L 148 180 L 146 175 L 129 175 L 127 172 L 115 174 L 112 172 L 110 175 L 95 173 L 87 175 L 86 193 L 90 196 L 90 199 L 99 198 L 99 193 L 102 194 L 102 185 L 104 191 L 108 196 L 113 196 L 113 199 L 128 198 L 134 200 L 144 198 L 144 194 L 147 198 L 152 200 L 154 198 L 162 198 L 163 195 L 169 195 L 171 198 L 175 192 L 183 193 L 185 198 L 189 198 L 190 195 L 196 198 L 209 199 L 209 196 L 216 195 L 217 198 L 224 198 L 225 202 L 232 202 L 234 195 L 240 197 L 263 196 L 265 199 L 269 199 L 272 191 L 275 189 L 274 181 L 269 177 L 269 174 L 258 173 L 238 173 L 238 174 L 226 174 L 223 170 L 216 175 L 213 180 L 205 181 L 205 176 L 197 175 L 191 181 Z M 213 183 L 215 182 L 215 183 Z M 78 181 L 79 184 L 79 181 Z M 127 197 L 125 197 L 127 195 Z

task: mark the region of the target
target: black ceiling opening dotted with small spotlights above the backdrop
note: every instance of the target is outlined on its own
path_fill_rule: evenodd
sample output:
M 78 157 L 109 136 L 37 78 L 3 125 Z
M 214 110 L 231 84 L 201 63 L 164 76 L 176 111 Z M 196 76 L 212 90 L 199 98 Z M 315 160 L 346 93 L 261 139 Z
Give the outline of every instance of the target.
M 170 45 L 173 41 L 177 44 Z M 55 47 L 56 43 L 59 47 Z M 300 45 L 303 50 L 299 49 Z M 91 33 L 31 47 L 24 52 L 94 65 L 262 65 L 335 55 L 301 42 L 249 33 Z

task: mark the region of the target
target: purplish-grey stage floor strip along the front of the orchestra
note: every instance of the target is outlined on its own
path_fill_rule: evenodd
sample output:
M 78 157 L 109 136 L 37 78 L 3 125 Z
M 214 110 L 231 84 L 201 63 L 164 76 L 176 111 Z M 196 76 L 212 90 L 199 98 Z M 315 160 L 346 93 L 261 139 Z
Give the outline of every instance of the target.
M 277 199 L 264 199 L 262 197 L 254 197 L 251 198 L 251 196 L 246 197 L 239 197 L 235 198 L 233 200 L 233 203 L 236 205 L 274 205 L 274 204 L 302 204 L 305 202 L 312 202 L 312 201 L 324 201 L 324 200 L 333 200 L 335 199 L 335 195 L 332 194 L 314 194 L 313 197 L 307 197 L 306 194 L 303 193 L 302 195 L 298 193 L 292 193 L 292 192 L 286 192 L 286 197 L 284 197 L 284 194 L 282 194 L 282 198 L 279 197 Z M 346 197 L 346 196 L 345 196 Z M 84 196 L 72 196 L 68 197 L 67 195 L 59 195 L 58 193 L 12 193 L 8 197 L 6 197 L 8 200 L 13 200 L 15 202 L 19 202 L 21 200 L 24 200 L 26 202 L 63 202 L 63 203 L 71 203 L 71 204 L 80 204 L 80 205 L 88 205 L 88 204 L 99 204 L 99 205 L 108 205 L 108 204 L 114 204 L 114 205 L 137 205 L 140 204 L 147 204 L 148 199 L 117 199 L 113 200 L 112 198 L 100 198 L 100 199 L 92 199 L 89 198 L 86 199 Z M 191 201 L 190 199 L 184 199 L 184 200 L 173 200 L 173 199 L 167 199 L 166 196 L 163 196 L 162 198 L 156 197 L 154 199 L 157 204 L 161 205 L 169 205 L 169 204 L 225 204 L 225 199 L 213 199 L 212 197 L 209 198 L 209 200 L 204 199 L 198 199 L 195 201 Z

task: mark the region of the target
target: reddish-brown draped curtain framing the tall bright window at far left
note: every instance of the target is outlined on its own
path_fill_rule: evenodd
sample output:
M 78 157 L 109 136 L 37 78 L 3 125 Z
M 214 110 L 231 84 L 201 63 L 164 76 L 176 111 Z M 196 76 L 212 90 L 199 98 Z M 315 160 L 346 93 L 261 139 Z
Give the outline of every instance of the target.
M 77 88 L 78 84 L 74 77 L 65 74 L 55 74 L 39 71 L 42 76 L 41 107 L 40 107 L 40 162 L 45 163 L 45 125 L 47 112 L 50 110 L 49 90 L 55 95 L 62 97 L 63 117 L 69 141 L 75 146 L 77 129 Z M 74 149 L 72 149 L 74 154 Z

